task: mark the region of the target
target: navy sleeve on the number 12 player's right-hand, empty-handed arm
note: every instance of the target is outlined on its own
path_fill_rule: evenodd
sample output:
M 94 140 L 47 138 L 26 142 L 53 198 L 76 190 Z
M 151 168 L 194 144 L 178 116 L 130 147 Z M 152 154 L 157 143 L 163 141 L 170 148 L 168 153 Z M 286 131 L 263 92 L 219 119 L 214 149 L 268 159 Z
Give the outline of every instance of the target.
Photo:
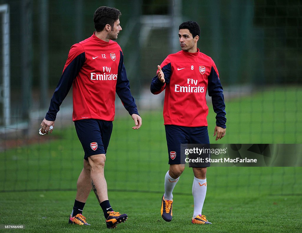
M 124 56 L 122 51 L 120 51 L 120 63 L 118 65 L 116 93 L 130 115 L 132 115 L 133 113 L 139 115 L 135 100 L 130 91 L 130 84 L 124 66 Z

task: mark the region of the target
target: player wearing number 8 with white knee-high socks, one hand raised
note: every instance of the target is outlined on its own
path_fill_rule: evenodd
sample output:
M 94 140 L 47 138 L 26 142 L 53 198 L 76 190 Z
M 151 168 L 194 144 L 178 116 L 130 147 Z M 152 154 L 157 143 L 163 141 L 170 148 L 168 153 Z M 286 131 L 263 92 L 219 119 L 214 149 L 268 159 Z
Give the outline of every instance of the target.
M 223 89 L 214 61 L 197 48 L 199 25 L 195 21 L 182 23 L 178 36 L 182 50 L 170 54 L 158 65 L 157 75 L 151 83 L 153 94 L 165 90 L 163 117 L 170 168 L 165 175 L 161 215 L 167 222 L 172 220 L 172 191 L 185 169 L 185 158 L 180 156 L 181 144 L 210 143 L 207 129 L 207 90 L 217 114 L 213 136 L 216 135 L 216 140 L 222 139 L 226 132 Z M 211 224 L 201 213 L 207 191 L 207 167 L 193 167 L 194 224 Z

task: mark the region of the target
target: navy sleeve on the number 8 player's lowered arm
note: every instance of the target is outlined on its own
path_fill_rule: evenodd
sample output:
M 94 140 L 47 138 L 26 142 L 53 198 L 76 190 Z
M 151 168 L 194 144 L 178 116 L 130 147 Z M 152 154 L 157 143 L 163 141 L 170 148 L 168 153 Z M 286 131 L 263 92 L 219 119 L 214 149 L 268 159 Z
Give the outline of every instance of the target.
M 208 76 L 208 94 L 212 97 L 214 112 L 216 113 L 216 125 L 221 128 L 226 128 L 226 112 L 223 97 L 223 89 L 218 78 L 218 75 L 212 66 L 210 75 Z

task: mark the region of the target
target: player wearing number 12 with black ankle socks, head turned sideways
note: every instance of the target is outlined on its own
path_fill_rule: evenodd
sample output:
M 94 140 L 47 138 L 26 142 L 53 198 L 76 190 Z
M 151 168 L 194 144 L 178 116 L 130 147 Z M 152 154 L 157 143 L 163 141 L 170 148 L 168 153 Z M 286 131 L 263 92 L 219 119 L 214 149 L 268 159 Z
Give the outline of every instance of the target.
M 113 41 L 122 30 L 120 15 L 119 10 L 105 6 L 95 11 L 95 32 L 71 47 L 49 110 L 41 123 L 42 133 L 48 133 L 72 86 L 72 120 L 85 152 L 84 168 L 79 175 L 76 199 L 69 217 L 69 223 L 77 225 L 90 225 L 82 211 L 91 188 L 104 212 L 108 228 L 115 228 L 118 223 L 127 220 L 127 214 L 112 209 L 104 177 L 106 151 L 115 114 L 115 93 L 134 120 L 132 129 L 139 129 L 142 125 L 130 92 L 122 49 Z

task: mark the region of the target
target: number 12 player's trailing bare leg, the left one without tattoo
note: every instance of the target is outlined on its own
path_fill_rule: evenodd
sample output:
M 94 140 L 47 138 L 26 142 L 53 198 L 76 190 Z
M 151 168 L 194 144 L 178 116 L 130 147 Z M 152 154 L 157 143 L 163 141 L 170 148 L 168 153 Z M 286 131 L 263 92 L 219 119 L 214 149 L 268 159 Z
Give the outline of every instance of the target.
M 84 159 L 84 168 L 79 175 L 76 193 L 76 200 L 85 203 L 89 193 L 91 191 L 91 182 L 90 182 L 90 165 L 87 160 Z

